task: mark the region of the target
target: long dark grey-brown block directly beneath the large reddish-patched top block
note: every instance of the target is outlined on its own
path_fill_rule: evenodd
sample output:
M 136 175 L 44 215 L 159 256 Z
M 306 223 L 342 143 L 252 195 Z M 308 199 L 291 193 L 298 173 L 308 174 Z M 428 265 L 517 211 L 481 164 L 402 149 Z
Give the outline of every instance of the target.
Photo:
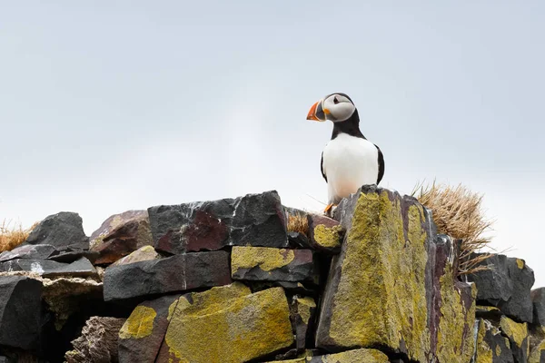
M 210 288 L 231 282 L 228 252 L 188 253 L 107 268 L 104 300 L 143 299 L 154 294 Z

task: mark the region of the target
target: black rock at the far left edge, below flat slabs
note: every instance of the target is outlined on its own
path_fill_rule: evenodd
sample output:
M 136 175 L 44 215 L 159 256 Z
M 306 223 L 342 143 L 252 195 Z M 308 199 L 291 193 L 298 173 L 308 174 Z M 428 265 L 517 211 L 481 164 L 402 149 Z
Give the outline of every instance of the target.
M 42 284 L 24 276 L 0 277 L 0 345 L 38 348 Z

